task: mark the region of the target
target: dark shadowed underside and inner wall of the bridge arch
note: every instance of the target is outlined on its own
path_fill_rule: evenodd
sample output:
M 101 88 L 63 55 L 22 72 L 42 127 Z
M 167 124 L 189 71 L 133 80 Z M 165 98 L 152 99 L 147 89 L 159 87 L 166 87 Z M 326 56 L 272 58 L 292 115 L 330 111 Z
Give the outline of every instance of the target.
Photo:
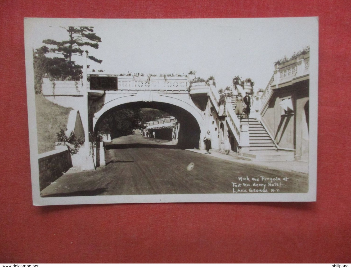
M 152 108 L 162 110 L 174 116 L 180 123 L 178 147 L 183 149 L 199 148 L 200 141 L 200 127 L 194 116 L 185 109 L 164 102 L 130 102 L 116 106 L 106 113 L 104 113 L 95 125 L 94 132 L 99 129 L 99 124 L 108 113 L 113 113 L 117 110 L 131 109 L 131 108 Z

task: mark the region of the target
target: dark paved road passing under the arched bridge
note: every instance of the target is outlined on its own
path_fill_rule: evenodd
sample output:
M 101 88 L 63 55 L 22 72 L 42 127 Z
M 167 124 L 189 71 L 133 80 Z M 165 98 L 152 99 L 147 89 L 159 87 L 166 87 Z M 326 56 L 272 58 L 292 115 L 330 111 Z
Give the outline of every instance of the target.
M 105 160 L 105 167 L 93 171 L 67 172 L 42 190 L 42 196 L 308 190 L 308 175 L 304 173 L 218 159 L 141 135 L 124 136 L 108 143 Z

